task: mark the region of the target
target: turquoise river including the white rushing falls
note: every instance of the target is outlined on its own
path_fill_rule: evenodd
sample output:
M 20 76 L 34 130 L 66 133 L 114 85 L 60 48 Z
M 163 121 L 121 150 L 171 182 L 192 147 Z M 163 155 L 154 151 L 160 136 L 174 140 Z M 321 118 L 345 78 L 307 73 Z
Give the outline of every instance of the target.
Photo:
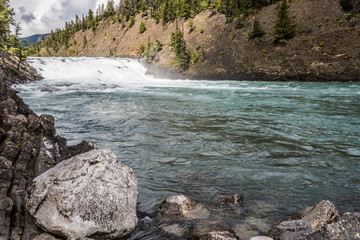
M 111 149 L 139 179 L 145 211 L 166 196 L 273 222 L 328 199 L 360 211 L 360 84 L 157 80 L 135 60 L 33 58 L 45 77 L 17 86 L 58 134 Z

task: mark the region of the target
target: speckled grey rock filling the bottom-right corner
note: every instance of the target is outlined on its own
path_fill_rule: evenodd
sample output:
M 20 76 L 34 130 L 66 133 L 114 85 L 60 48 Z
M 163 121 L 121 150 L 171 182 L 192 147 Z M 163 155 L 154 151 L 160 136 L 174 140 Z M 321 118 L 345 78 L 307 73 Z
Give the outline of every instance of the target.
M 308 240 L 360 239 L 360 213 L 345 213 L 338 221 L 328 224 L 309 235 Z

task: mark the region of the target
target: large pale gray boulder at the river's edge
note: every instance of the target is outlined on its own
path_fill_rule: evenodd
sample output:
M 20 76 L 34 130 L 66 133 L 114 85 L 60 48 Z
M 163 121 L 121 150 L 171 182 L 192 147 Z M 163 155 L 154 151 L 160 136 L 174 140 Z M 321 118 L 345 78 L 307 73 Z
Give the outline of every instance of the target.
M 113 239 L 136 224 L 137 178 L 110 150 L 92 150 L 36 177 L 26 208 L 45 231 L 67 238 Z

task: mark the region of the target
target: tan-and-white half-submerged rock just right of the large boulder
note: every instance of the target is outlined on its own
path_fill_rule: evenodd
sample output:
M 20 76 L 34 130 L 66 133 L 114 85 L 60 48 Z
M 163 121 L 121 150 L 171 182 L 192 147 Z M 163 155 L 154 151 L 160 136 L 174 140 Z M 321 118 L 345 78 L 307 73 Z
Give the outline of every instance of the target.
M 210 211 L 204 205 L 184 195 L 166 198 L 159 209 L 161 216 L 168 219 L 201 219 L 210 215 Z

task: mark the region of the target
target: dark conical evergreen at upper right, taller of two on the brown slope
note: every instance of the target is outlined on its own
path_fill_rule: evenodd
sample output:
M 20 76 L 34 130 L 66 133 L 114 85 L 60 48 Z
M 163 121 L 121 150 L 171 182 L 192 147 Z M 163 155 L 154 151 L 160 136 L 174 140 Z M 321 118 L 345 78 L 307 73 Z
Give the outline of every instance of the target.
M 279 12 L 277 14 L 278 20 L 275 23 L 275 42 L 286 42 L 295 36 L 295 24 L 289 17 L 289 5 L 286 0 L 282 0 Z

